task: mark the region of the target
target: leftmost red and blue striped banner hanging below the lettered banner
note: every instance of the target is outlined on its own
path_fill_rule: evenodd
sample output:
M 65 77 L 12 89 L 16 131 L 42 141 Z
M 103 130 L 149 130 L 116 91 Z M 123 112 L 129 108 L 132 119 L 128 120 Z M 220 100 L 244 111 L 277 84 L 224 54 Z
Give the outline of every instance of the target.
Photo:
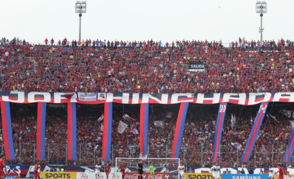
M 1 101 L 1 116 L 5 157 L 15 160 L 9 102 Z

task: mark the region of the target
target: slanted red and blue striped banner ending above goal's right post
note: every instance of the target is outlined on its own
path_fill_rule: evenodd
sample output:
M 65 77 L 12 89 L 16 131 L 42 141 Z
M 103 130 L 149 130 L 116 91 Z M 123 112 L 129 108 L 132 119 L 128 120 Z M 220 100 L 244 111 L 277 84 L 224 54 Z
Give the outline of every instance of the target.
M 188 107 L 189 102 L 181 103 L 172 143 L 172 158 L 179 157 Z

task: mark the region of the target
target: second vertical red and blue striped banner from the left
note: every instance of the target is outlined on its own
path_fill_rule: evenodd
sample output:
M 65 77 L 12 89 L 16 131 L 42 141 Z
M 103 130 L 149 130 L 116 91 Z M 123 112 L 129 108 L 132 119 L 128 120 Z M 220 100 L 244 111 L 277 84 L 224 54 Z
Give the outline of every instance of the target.
M 38 102 L 37 115 L 37 160 L 45 160 L 45 124 L 47 103 Z

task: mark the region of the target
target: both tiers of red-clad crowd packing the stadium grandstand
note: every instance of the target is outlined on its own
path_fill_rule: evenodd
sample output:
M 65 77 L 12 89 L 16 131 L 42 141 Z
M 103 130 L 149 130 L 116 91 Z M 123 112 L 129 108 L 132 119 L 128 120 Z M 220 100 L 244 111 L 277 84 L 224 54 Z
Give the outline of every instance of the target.
M 162 44 L 138 42 L 46 40 L 44 45 L 14 38 L 1 39 L 0 89 L 39 92 L 110 93 L 241 93 L 293 91 L 294 43 L 290 40 L 234 40 L 222 42 L 177 41 Z M 189 64 L 204 64 L 205 70 L 191 71 Z M 126 108 L 127 107 L 127 108 Z M 36 104 L 10 104 L 16 160 L 7 164 L 33 165 L 36 161 Z M 190 106 L 187 112 L 180 158 L 186 166 L 211 167 L 218 105 Z M 265 167 L 283 158 L 292 127 L 293 106 L 271 105 L 248 163 L 240 162 L 259 105 L 228 106 L 221 139 L 221 166 Z M 103 105 L 77 105 L 77 160 L 66 161 L 67 111 L 65 105 L 49 105 L 46 120 L 46 159 L 41 165 L 93 166 L 101 160 L 102 132 L 97 116 Z M 179 105 L 150 105 L 148 157 L 171 157 Z M 172 112 L 172 116 L 166 114 Z M 138 134 L 118 133 L 120 121 L 140 126 L 140 105 L 114 104 L 111 161 L 116 157 L 139 157 Z M 237 125 L 231 126 L 231 114 Z M 273 116 L 273 117 L 271 117 Z M 163 121 L 163 127 L 154 126 Z M 167 130 L 168 129 L 168 130 Z M 2 130 L 1 130 L 2 132 Z M 279 140 L 274 141 L 283 133 Z M 0 138 L 2 140 L 2 138 Z M 2 140 L 3 141 L 3 140 Z M 242 145 L 237 150 L 231 143 Z M 2 150 L 3 151 L 3 143 Z M 1 151 L 1 152 L 2 152 Z M 94 162 L 95 160 L 95 162 Z M 164 166 L 164 161 L 157 161 Z M 291 163 L 293 159 L 291 160 Z M 127 165 L 128 163 L 126 163 Z

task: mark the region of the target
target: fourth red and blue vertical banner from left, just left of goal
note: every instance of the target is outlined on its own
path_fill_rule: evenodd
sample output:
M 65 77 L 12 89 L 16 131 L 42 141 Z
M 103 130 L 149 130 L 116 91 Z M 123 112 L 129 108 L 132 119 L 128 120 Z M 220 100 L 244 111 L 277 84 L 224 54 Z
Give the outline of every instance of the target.
M 112 102 L 104 103 L 102 159 L 110 161 L 111 129 L 112 128 Z

